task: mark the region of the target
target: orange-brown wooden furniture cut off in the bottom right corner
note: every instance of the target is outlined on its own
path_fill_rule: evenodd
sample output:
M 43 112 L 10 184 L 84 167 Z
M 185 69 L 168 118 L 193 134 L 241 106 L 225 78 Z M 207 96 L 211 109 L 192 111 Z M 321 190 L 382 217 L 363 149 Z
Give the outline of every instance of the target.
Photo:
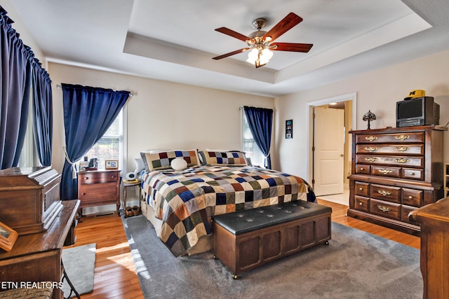
M 448 298 L 449 294 L 449 197 L 415 209 L 410 220 L 421 227 L 422 298 Z

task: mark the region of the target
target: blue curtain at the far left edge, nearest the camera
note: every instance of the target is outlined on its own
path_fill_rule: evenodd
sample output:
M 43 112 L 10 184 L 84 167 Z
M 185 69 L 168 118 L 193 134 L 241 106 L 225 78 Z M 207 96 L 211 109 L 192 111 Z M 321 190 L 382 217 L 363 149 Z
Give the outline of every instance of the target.
M 0 162 L 16 166 L 25 139 L 32 53 L 0 6 Z

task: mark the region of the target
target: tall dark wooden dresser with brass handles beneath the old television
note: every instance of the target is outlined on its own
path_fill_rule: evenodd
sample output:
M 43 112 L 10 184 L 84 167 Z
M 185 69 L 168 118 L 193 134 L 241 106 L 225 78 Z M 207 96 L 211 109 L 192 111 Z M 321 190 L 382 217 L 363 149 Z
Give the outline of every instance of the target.
M 443 197 L 445 127 L 351 131 L 348 216 L 419 234 L 408 214 Z

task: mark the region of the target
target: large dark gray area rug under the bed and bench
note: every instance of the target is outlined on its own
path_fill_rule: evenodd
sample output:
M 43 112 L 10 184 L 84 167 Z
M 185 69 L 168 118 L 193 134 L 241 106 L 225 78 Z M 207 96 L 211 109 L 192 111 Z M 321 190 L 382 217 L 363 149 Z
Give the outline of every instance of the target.
M 122 219 L 145 298 L 422 298 L 420 251 L 338 223 L 328 246 L 234 280 L 213 253 L 175 258 L 145 216 Z

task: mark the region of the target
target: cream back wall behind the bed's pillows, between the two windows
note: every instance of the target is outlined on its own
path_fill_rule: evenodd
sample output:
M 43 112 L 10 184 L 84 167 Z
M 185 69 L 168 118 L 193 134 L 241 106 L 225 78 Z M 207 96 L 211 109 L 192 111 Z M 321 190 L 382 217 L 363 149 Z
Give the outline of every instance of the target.
M 130 90 L 134 96 L 127 105 L 128 169 L 134 158 L 148 149 L 241 148 L 240 106 L 274 108 L 274 99 L 236 92 L 199 88 L 49 63 L 53 81 L 53 158 L 52 166 L 62 172 L 65 146 L 62 89 L 57 84 L 88 85 L 113 90 Z M 274 153 L 276 155 L 276 153 Z M 124 172 L 126 173 L 126 172 Z

